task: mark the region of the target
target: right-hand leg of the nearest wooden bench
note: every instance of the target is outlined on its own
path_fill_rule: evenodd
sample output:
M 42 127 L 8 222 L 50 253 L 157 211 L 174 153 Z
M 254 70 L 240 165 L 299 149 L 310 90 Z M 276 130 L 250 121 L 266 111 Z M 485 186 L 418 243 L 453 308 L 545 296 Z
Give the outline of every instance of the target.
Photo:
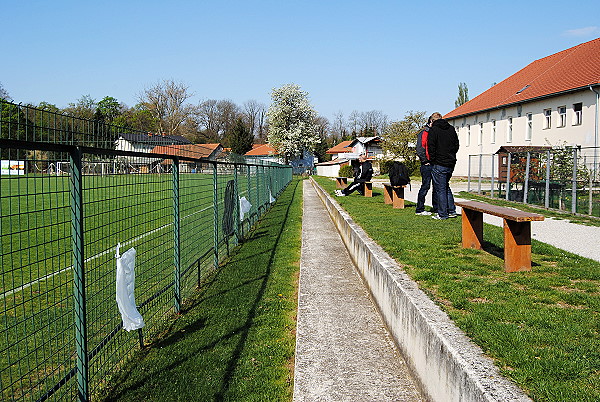
M 504 219 L 504 271 L 531 271 L 531 222 Z

